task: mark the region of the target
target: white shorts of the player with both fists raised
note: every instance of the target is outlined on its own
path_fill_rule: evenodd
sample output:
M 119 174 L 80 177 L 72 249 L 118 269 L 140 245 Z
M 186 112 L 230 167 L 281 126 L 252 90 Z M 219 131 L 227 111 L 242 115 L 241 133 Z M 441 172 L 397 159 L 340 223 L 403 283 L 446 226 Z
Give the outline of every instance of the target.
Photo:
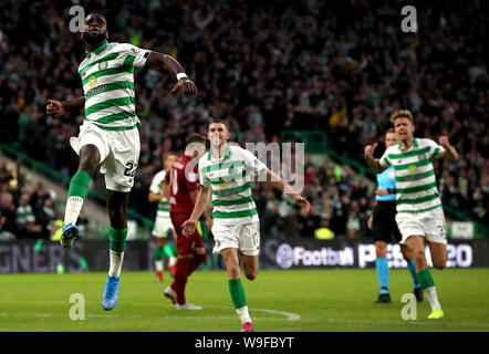
M 423 236 L 426 240 L 447 244 L 444 209 L 436 208 L 424 212 L 397 212 L 397 227 L 403 236 L 400 244 L 410 236 Z

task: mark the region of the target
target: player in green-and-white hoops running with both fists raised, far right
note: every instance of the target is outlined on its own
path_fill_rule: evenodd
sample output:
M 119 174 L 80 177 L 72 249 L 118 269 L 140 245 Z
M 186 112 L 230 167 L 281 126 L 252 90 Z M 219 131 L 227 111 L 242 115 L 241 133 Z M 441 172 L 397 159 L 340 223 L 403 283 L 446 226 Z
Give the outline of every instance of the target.
M 416 275 L 431 305 L 428 319 L 444 316 L 441 305 L 429 272 L 424 239 L 427 240 L 433 266 L 444 269 L 447 263 L 445 216 L 436 187 L 431 159 L 458 159 L 457 150 L 447 136 L 439 144 L 414 137 L 415 126 L 409 111 L 396 111 L 391 116 L 399 144 L 388 147 L 381 159 L 374 158 L 377 144 L 365 146 L 365 160 L 376 174 L 394 166 L 396 178 L 396 222 L 402 233 L 400 244 L 414 254 Z

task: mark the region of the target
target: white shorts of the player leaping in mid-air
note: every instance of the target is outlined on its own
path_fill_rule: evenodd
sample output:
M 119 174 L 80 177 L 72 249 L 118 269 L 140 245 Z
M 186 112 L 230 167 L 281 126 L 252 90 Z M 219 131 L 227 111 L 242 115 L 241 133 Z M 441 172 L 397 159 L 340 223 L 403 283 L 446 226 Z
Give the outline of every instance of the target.
M 84 145 L 95 145 L 101 154 L 101 174 L 105 175 L 105 188 L 127 192 L 134 186 L 139 160 L 139 131 L 105 131 L 92 123 L 80 126 L 77 137 L 70 139 L 71 147 L 80 155 Z

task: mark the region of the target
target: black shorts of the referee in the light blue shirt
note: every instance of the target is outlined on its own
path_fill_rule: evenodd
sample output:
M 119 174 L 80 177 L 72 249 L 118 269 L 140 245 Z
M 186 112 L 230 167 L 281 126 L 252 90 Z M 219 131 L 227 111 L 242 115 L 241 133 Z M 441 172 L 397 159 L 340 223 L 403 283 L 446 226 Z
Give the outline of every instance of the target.
M 396 222 L 396 201 L 381 201 L 374 208 L 374 221 L 372 223 L 372 235 L 375 241 L 386 243 L 400 242 L 400 232 Z

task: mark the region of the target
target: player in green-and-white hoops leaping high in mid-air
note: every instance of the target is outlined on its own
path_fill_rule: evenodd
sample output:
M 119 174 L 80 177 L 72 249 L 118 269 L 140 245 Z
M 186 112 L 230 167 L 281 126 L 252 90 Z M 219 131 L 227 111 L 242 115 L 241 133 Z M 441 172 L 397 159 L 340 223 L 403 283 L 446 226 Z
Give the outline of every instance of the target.
M 97 168 L 105 174 L 110 218 L 110 270 L 102 298 L 104 310 L 112 310 L 127 236 L 127 202 L 139 158 L 139 119 L 135 113 L 134 67 L 168 71 L 176 80 L 173 94 L 193 95 L 197 88 L 181 65 L 158 52 L 132 44 L 108 43 L 107 23 L 98 13 L 85 18 L 82 33 L 86 58 L 79 72 L 84 96 L 59 102 L 48 100 L 48 114 L 59 116 L 66 110 L 85 107 L 85 121 L 77 138 L 70 143 L 80 156 L 79 170 L 70 181 L 61 246 L 71 248 L 77 237 L 76 220 L 89 185 Z

